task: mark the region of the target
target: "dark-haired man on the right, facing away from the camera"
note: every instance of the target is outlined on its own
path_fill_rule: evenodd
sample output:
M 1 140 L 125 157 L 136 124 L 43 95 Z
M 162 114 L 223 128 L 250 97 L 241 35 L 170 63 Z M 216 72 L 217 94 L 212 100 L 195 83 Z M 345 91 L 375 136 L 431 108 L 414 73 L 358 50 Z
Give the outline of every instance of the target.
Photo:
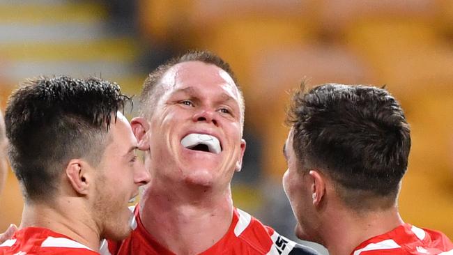
M 284 189 L 299 238 L 330 254 L 452 254 L 443 233 L 404 223 L 397 208 L 410 129 L 382 88 L 324 84 L 293 97 Z

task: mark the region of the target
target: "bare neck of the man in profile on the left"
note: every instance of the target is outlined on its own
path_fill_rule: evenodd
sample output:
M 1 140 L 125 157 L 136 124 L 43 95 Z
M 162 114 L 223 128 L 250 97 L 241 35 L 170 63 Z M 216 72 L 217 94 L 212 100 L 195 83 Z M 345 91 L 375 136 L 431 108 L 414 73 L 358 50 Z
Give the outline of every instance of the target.
M 48 206 L 47 203 L 49 203 Z M 72 208 L 68 210 L 68 205 Z M 99 250 L 100 231 L 76 199 L 55 199 L 45 203 L 24 203 L 20 228 L 36 226 L 66 235 L 94 251 Z

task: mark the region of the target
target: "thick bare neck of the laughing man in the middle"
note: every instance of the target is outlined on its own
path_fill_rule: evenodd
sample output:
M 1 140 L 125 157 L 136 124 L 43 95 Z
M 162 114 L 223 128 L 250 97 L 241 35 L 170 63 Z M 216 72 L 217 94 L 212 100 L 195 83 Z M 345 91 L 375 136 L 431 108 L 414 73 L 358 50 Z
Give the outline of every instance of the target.
M 151 183 L 140 203 L 145 228 L 176 254 L 204 252 L 227 233 L 233 218 L 229 186 L 220 191 L 184 183 Z

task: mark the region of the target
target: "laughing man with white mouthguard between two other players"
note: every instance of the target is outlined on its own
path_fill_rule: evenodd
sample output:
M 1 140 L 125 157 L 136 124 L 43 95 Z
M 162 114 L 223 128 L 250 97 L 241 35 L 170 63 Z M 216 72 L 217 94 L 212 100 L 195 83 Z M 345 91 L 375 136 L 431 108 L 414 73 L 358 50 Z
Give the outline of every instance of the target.
M 149 75 L 132 119 L 151 173 L 118 254 L 315 254 L 233 207 L 244 100 L 229 65 L 189 52 Z

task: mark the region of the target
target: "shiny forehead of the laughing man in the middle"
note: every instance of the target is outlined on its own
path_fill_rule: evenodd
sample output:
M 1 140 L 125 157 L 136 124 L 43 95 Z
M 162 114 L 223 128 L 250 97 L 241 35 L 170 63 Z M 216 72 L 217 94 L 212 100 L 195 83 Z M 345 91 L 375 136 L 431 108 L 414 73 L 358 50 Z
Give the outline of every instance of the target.
M 201 61 L 188 61 L 172 66 L 162 76 L 161 83 L 166 91 L 187 87 L 219 89 L 233 98 L 239 98 L 238 88 L 227 72 L 217 65 Z

